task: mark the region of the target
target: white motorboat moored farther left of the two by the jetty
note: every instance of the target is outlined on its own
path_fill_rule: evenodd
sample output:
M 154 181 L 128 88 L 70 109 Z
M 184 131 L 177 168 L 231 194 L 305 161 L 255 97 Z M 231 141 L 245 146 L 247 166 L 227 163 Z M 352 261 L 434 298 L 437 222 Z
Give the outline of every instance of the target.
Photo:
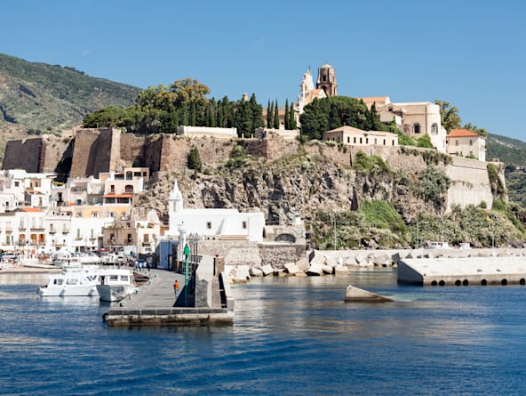
M 86 265 L 64 269 L 59 274 L 50 275 L 49 283 L 38 287 L 36 291 L 42 296 L 92 296 L 99 295 L 97 291 L 99 283 L 99 266 Z

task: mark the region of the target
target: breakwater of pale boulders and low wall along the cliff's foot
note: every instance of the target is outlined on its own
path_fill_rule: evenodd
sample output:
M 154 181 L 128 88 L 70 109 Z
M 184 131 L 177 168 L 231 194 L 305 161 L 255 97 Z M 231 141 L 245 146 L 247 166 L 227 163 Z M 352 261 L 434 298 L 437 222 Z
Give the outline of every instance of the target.
M 338 275 L 359 269 L 397 267 L 404 259 L 469 259 L 477 257 L 525 257 L 526 249 L 392 249 L 313 250 L 295 263 L 283 265 L 237 265 L 225 267 L 231 283 L 250 282 L 252 277 Z

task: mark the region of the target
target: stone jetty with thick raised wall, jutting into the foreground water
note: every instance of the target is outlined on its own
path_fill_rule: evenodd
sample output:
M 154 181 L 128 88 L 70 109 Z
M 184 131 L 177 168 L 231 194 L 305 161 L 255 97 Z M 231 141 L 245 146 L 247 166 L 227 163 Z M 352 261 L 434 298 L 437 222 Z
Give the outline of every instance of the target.
M 114 303 L 103 315 L 108 327 L 232 324 L 234 299 L 223 269 L 213 257 L 203 256 L 192 282 L 183 274 L 150 270 L 150 280 L 137 293 Z M 173 283 L 179 281 L 179 294 Z

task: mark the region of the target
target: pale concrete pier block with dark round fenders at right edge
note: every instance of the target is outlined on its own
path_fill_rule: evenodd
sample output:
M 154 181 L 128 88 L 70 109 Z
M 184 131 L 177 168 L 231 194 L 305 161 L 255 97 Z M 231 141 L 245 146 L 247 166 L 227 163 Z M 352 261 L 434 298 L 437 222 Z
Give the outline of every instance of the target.
M 398 283 L 421 286 L 526 284 L 526 257 L 403 259 Z

